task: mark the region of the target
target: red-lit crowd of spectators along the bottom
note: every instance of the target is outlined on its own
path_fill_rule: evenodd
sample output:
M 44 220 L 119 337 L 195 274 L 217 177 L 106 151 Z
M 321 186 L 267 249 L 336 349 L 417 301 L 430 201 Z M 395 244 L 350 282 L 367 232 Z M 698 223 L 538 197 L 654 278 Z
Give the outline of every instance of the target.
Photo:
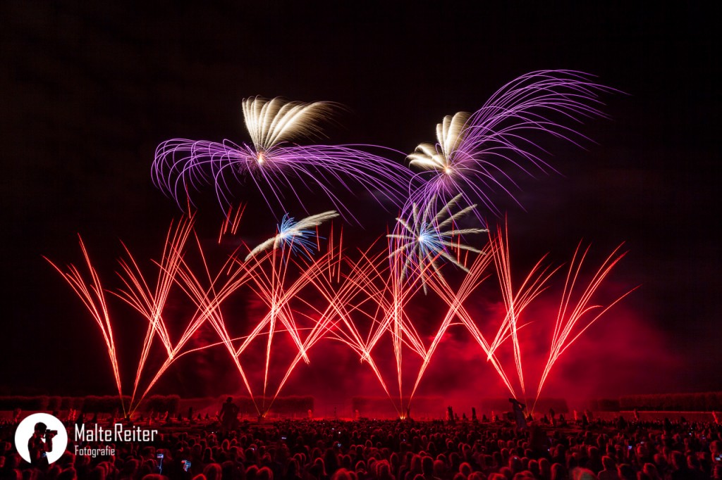
M 156 426 L 157 427 L 157 426 Z M 72 432 L 69 425 L 69 432 Z M 33 465 L 2 428 L 0 479 L 37 480 L 679 480 L 722 479 L 713 422 L 414 422 L 357 419 L 161 426 L 150 444 Z M 71 435 L 72 437 L 72 435 Z

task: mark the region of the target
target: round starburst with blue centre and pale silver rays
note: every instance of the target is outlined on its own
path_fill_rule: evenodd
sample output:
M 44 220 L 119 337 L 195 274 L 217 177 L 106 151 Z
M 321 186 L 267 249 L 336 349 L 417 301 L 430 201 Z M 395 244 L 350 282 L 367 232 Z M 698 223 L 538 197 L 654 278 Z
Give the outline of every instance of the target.
M 387 237 L 390 239 L 391 259 L 394 261 L 400 259 L 403 264 L 400 272 L 401 280 L 404 280 L 409 272 L 419 272 L 419 278 L 426 291 L 428 272 L 433 271 L 441 275 L 439 263 L 441 259 L 469 272 L 461 264 L 459 257 L 453 257 L 451 252 L 456 250 L 457 255 L 461 250 L 481 253 L 473 246 L 461 244 L 460 237 L 467 234 L 481 234 L 487 230 L 456 227 L 456 221 L 459 218 L 477 208 L 477 205 L 470 205 L 452 213 L 458 200 L 461 200 L 461 195 L 456 195 L 442 208 L 438 208 L 436 197 L 431 197 L 423 210 L 414 203 L 409 218 L 396 218 L 396 228 L 394 228 L 393 234 L 389 234 Z M 454 241 L 455 238 L 456 241 Z

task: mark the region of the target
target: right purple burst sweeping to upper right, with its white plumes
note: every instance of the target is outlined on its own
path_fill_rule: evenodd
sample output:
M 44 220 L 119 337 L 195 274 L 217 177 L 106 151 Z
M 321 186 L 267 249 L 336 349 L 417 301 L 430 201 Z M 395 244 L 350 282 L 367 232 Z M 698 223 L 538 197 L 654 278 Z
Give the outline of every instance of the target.
M 578 71 L 533 71 L 499 89 L 477 112 L 447 116 L 437 126 L 438 143 L 422 143 L 409 155 L 410 164 L 422 169 L 427 182 L 409 190 L 412 202 L 426 203 L 432 196 L 443 198 L 464 193 L 468 203 L 480 200 L 499 213 L 490 193 L 500 188 L 513 198 L 517 187 L 505 165 L 531 175 L 527 166 L 540 172 L 553 170 L 540 154 L 544 148 L 529 138 L 543 133 L 575 145 L 588 139 L 573 128 L 554 120 L 572 123 L 590 117 L 605 117 L 599 110 L 599 94 L 617 92 L 596 84 L 591 75 Z

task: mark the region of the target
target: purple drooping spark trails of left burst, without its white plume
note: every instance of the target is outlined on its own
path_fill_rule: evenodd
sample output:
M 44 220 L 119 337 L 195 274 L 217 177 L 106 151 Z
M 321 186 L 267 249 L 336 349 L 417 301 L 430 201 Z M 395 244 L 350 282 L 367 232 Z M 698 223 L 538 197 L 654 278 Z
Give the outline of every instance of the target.
M 309 192 L 325 195 L 334 208 L 350 220 L 354 216 L 338 197 L 333 185 L 348 192 L 358 192 L 360 187 L 371 196 L 380 197 L 378 202 L 382 205 L 383 200 L 401 205 L 406 185 L 419 185 L 403 164 L 362 148 L 382 149 L 363 145 L 275 146 L 265 152 L 264 161 L 258 162 L 256 152 L 250 146 L 238 146 L 230 141 L 215 143 L 174 139 L 158 147 L 155 166 L 162 171 L 155 174 L 155 182 L 176 202 L 180 202 L 188 190 L 214 185 L 219 204 L 225 205 L 230 203 L 235 185 L 250 178 L 273 211 L 287 210 L 286 196 L 294 197 L 297 205 L 305 209 L 299 189 L 295 187 L 298 182 Z M 383 151 L 399 154 L 388 148 Z M 165 164 L 159 166 L 160 161 Z M 170 162 L 172 165 L 168 166 Z M 206 170 L 209 173 L 197 173 Z M 165 184 L 157 179 L 162 175 L 169 177 Z M 170 178 L 175 178 L 175 182 Z M 283 191 L 287 191 L 288 195 L 284 195 Z

